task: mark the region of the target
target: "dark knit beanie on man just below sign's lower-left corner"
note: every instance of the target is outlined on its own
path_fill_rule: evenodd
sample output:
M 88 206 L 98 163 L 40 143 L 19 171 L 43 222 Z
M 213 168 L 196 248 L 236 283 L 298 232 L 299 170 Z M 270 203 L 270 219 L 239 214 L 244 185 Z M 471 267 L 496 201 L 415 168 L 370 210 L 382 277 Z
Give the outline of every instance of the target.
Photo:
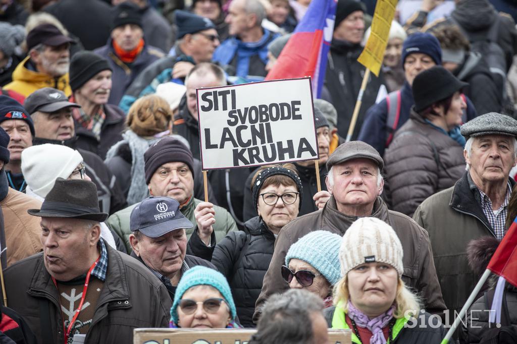
M 186 163 L 192 177 L 194 176 L 194 159 L 192 152 L 178 139 L 170 136 L 160 138 L 153 146 L 150 146 L 144 153 L 145 182 L 149 184 L 155 171 L 163 164 L 170 162 Z

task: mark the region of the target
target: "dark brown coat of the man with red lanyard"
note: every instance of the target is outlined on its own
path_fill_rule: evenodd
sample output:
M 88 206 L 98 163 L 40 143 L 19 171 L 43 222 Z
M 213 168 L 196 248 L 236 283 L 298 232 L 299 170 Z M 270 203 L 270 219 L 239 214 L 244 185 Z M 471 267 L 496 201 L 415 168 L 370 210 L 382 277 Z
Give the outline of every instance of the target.
M 107 278 L 85 342 L 132 343 L 133 329 L 137 327 L 168 326 L 172 302 L 165 286 L 136 259 L 109 245 L 106 248 Z M 9 307 L 25 318 L 38 343 L 44 342 L 45 333 L 52 342 L 63 343 L 59 295 L 43 264 L 43 254 L 17 262 L 4 276 Z M 44 304 L 48 305 L 48 314 L 41 314 L 40 306 Z M 50 324 L 43 331 L 41 317 L 47 317 Z

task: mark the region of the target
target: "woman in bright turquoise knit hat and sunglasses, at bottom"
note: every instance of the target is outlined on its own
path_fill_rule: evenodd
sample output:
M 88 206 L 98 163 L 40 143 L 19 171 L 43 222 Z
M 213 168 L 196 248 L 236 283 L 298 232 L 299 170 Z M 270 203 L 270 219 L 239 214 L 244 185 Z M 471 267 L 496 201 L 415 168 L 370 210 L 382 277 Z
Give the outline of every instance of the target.
M 171 308 L 170 327 L 184 329 L 234 329 L 235 304 L 226 278 L 200 265 L 179 280 Z

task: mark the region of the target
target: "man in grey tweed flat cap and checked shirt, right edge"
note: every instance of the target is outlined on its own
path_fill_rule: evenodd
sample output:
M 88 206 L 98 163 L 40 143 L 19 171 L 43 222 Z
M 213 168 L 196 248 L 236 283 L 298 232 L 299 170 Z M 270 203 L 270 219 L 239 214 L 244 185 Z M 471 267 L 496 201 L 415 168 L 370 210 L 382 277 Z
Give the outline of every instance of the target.
M 515 181 L 517 120 L 488 113 L 461 127 L 467 171 L 454 186 L 424 200 L 415 221 L 427 229 L 447 308 L 459 311 L 479 276 L 469 268 L 467 244 L 481 236 L 503 239 Z M 513 221 L 513 218 L 511 219 Z

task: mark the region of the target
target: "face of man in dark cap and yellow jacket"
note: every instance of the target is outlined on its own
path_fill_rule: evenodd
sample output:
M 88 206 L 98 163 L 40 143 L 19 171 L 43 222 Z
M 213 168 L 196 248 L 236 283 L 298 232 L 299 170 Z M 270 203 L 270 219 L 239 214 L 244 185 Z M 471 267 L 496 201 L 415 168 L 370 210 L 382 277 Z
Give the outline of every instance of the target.
M 70 43 L 58 46 L 45 45 L 42 52 L 35 52 L 36 69 L 53 77 L 68 73 L 70 67 Z

